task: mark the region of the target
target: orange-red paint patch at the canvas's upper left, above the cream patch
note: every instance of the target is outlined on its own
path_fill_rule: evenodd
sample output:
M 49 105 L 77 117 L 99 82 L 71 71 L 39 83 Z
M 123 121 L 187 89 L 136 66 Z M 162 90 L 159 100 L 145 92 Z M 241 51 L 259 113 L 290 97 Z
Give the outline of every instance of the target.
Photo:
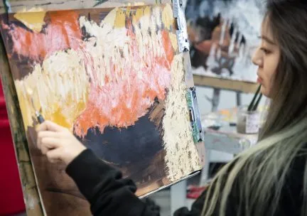
M 47 14 L 50 21 L 46 21 L 48 24 L 40 33 L 15 24 L 10 25 L 13 53 L 33 60 L 43 60 L 55 51 L 77 49 L 82 45 L 77 11 L 53 11 Z M 3 23 L 2 27 L 7 28 Z

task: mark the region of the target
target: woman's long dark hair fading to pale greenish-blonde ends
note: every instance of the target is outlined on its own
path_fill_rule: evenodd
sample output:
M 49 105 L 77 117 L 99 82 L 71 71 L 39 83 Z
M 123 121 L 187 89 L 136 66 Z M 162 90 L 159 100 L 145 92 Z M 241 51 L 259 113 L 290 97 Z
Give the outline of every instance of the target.
M 259 143 L 240 153 L 213 178 L 202 216 L 226 215 L 235 199 L 237 215 L 274 215 L 293 161 L 307 159 L 307 3 L 269 0 L 266 16 L 281 60 Z M 307 215 L 307 166 L 303 168 L 303 204 Z M 233 203 L 233 202 L 231 202 Z

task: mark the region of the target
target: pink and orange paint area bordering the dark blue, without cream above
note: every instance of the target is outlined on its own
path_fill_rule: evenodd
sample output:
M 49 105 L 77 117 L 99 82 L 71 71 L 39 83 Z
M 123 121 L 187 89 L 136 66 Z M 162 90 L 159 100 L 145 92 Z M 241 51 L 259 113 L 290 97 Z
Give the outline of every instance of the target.
M 125 57 L 125 71 L 120 71 L 116 62 L 110 62 L 114 68 L 112 75 L 104 76 L 104 86 L 99 87 L 99 77 L 95 72 L 104 70 L 90 68 L 92 74 L 91 90 L 87 108 L 75 121 L 74 131 L 78 136 L 85 136 L 88 129 L 98 127 L 103 132 L 106 126 L 126 127 L 144 116 L 154 99 L 165 99 L 166 89 L 171 85 L 171 61 L 174 57 L 171 39 L 167 31 L 162 31 L 163 57 L 146 49 L 146 55 L 139 55 L 139 45 L 133 33 L 130 21 L 127 21 L 127 35 L 130 38 L 129 57 Z M 86 51 L 85 51 L 86 53 Z M 87 54 L 85 54 L 87 55 Z M 92 57 L 85 57 L 87 65 L 92 65 Z M 131 63 L 133 62 L 133 63 Z M 141 68 L 139 67 L 141 65 Z M 89 72 L 91 73 L 91 72 Z M 121 74 L 126 74 L 120 76 Z M 139 75 L 141 73 L 141 75 Z M 117 78 L 122 77 L 122 78 Z M 129 80 L 127 80 L 127 78 Z

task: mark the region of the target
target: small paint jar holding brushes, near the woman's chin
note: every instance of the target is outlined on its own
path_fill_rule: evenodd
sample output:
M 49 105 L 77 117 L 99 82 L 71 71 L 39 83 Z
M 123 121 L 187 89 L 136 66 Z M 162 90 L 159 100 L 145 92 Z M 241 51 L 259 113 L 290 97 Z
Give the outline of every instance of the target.
M 239 134 L 258 134 L 260 113 L 258 110 L 247 111 L 247 106 L 239 107 L 237 111 L 237 132 Z

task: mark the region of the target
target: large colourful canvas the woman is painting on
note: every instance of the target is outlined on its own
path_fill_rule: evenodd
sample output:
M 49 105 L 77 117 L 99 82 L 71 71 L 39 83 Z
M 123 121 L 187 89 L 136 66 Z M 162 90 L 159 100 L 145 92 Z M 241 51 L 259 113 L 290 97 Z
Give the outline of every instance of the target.
M 170 4 L 5 14 L 1 35 L 46 215 L 90 209 L 36 148 L 35 110 L 132 178 L 137 195 L 200 170 Z

